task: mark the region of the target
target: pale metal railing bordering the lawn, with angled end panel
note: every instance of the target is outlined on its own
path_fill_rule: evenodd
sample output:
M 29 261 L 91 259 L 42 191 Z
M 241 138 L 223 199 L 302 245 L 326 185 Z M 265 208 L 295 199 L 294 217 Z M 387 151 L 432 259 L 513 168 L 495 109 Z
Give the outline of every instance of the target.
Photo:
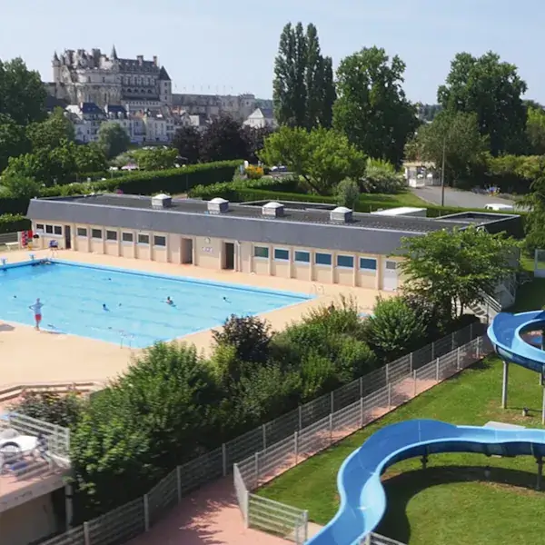
M 294 431 L 292 437 L 263 447 L 262 451 L 256 451 L 246 460 L 235 463 L 233 483 L 246 526 L 272 530 L 302 545 L 308 535 L 308 512 L 276 501 L 268 503 L 271 500 L 257 496 L 252 491 L 410 401 L 422 391 L 461 372 L 490 352 L 492 348 L 488 337 L 482 336 L 418 369 L 398 366 L 380 390 L 362 395 L 350 405 L 331 411 L 310 426 Z M 368 536 L 363 542 L 369 545 L 397 543 L 378 534 Z

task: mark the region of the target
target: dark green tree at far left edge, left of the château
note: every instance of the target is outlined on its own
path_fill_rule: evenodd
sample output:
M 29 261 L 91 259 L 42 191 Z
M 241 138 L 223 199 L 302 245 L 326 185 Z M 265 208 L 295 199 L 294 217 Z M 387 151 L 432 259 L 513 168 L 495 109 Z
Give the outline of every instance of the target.
M 0 60 L 0 114 L 9 115 L 19 125 L 42 121 L 46 96 L 40 74 L 28 70 L 23 59 Z

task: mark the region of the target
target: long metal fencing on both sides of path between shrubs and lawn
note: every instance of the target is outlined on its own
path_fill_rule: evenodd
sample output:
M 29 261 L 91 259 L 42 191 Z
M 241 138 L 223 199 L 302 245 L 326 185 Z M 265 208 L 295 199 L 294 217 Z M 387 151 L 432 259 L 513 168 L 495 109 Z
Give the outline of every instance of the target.
M 403 356 L 178 466 L 142 498 L 42 545 L 121 545 L 149 531 L 184 496 L 232 471 L 246 526 L 302 544 L 308 536 L 308 512 L 254 494 L 254 490 L 479 361 L 491 352 L 483 333 L 484 327 L 474 323 Z M 372 540 L 371 544 L 391 542 Z

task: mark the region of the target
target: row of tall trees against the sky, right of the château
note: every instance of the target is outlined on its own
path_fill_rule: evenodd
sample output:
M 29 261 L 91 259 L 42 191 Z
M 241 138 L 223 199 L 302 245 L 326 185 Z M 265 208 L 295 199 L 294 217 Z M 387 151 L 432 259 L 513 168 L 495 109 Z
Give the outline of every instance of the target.
M 379 47 L 342 59 L 334 84 L 329 72 L 314 81 L 322 66 L 331 61 L 320 53 L 314 25 L 306 33 L 301 24 L 286 25 L 273 81 L 280 124 L 306 130 L 332 127 L 364 154 L 396 165 L 404 154 L 441 164 L 445 147 L 451 180 L 467 177 L 468 170 L 482 163 L 482 154 L 545 152 L 545 112 L 522 100 L 527 84 L 517 67 L 498 54 L 457 54 L 434 106 L 407 100 L 405 64 Z M 419 117 L 432 123 L 420 126 Z

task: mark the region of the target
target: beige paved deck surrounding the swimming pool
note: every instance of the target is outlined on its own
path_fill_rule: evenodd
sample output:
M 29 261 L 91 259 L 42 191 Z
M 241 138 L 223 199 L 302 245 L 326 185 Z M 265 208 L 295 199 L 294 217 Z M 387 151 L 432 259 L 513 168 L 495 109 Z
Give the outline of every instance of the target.
M 49 256 L 47 250 L 35 252 L 36 259 Z M 5 253 L 8 263 L 28 261 L 26 251 Z M 328 305 L 339 300 L 340 295 L 352 296 L 362 312 L 372 310 L 379 294 L 391 296 L 391 292 L 378 292 L 336 284 L 304 282 L 257 274 L 233 271 L 213 271 L 193 265 L 138 261 L 122 257 L 60 252 L 59 260 L 106 267 L 133 269 L 141 272 L 155 272 L 210 282 L 227 282 L 286 292 L 299 292 L 317 296 L 309 301 L 260 314 L 271 323 L 272 329 L 281 331 L 287 324 L 301 319 L 312 308 Z M 45 302 L 46 304 L 46 302 Z M 44 308 L 44 322 L 47 322 L 47 307 Z M 177 339 L 194 344 L 200 352 L 211 352 L 212 330 L 192 333 Z M 132 358 L 141 350 L 111 342 L 94 341 L 75 335 L 55 332 L 36 332 L 31 326 L 14 322 L 0 322 L 0 389 L 14 384 L 31 384 L 59 381 L 97 381 L 113 379 L 124 372 Z

